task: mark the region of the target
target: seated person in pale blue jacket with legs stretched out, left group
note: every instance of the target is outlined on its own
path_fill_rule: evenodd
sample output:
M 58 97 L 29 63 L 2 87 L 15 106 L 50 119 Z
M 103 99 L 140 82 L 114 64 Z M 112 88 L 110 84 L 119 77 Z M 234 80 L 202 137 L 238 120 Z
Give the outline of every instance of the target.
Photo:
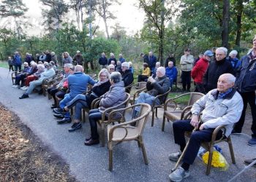
M 47 62 L 45 62 L 47 63 Z M 29 83 L 29 88 L 28 90 L 26 90 L 26 92 L 21 95 L 20 99 L 23 98 L 29 98 L 29 94 L 31 94 L 31 92 L 33 92 L 33 90 L 37 87 L 39 87 L 40 90 L 42 90 L 42 81 L 44 79 L 49 78 L 50 76 L 53 76 L 55 74 L 55 71 L 53 70 L 52 66 L 50 63 L 46 64 L 46 70 L 44 72 L 42 72 L 42 74 L 40 74 L 39 79 L 34 80 L 33 82 Z

